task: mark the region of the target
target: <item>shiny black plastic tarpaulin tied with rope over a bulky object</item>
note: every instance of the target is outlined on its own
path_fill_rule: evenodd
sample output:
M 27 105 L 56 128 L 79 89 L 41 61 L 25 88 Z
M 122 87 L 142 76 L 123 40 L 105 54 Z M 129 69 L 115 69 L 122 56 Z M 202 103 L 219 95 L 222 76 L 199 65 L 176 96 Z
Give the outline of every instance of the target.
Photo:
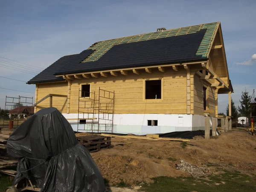
M 90 153 L 56 108 L 42 109 L 24 121 L 9 137 L 7 152 L 19 159 L 15 184 L 27 178 L 42 192 L 105 191 Z

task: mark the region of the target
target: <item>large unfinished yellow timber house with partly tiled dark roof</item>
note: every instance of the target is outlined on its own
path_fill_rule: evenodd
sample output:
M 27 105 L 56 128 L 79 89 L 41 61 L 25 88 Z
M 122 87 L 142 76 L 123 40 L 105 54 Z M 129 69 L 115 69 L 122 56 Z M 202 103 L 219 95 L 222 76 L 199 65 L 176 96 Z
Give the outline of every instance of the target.
M 35 111 L 56 107 L 74 130 L 134 134 L 204 130 L 205 113 L 218 117 L 218 94 L 231 105 L 233 92 L 220 22 L 99 41 L 28 84 Z

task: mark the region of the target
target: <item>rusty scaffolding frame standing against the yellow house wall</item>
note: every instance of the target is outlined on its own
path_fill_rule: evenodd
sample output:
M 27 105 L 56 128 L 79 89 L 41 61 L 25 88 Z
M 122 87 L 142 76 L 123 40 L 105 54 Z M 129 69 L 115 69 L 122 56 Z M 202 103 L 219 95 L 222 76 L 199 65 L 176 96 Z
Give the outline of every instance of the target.
M 83 92 L 89 93 L 90 96 L 82 97 Z M 99 94 L 96 95 L 96 91 L 87 92 L 79 88 L 77 132 L 80 130 L 92 133 L 101 131 L 113 133 L 114 100 L 114 91 L 99 87 Z M 81 122 L 81 120 L 84 121 Z M 84 124 L 83 129 L 79 129 L 81 124 Z M 103 130 L 102 126 L 105 127 Z

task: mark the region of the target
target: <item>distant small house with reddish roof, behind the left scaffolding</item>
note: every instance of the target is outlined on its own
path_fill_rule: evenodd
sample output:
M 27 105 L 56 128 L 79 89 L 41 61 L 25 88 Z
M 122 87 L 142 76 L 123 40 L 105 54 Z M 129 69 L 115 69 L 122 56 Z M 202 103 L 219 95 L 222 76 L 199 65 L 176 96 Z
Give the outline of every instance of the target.
M 34 114 L 34 107 L 32 106 L 20 106 L 15 109 L 8 111 L 9 118 L 14 117 L 18 119 L 25 119 L 26 117 Z

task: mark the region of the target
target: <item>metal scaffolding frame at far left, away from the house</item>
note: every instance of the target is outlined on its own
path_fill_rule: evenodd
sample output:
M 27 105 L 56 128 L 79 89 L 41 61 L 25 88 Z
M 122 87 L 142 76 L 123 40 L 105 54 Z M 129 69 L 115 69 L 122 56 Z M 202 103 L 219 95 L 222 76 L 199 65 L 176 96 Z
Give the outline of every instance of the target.
M 17 127 L 19 126 L 19 122 L 24 122 L 26 119 L 21 119 L 20 118 L 20 107 L 33 107 L 33 97 L 23 97 L 20 96 L 19 97 L 9 97 L 6 96 L 6 101 L 5 101 L 5 111 L 4 111 L 4 115 L 3 115 L 3 127 L 5 126 L 5 116 L 6 116 L 6 111 L 9 110 L 8 107 L 11 106 L 11 110 L 13 110 L 13 106 L 18 105 L 17 107 L 17 113 L 13 113 L 15 115 L 17 115 Z M 25 106 L 24 106 L 25 105 Z M 33 111 L 34 113 L 34 111 Z M 32 115 L 32 113 L 29 113 L 28 110 L 28 114 L 29 116 Z M 14 120 L 16 120 L 14 118 Z M 16 123 L 14 123 L 13 125 L 16 125 Z M 9 127 L 9 126 L 8 126 Z

